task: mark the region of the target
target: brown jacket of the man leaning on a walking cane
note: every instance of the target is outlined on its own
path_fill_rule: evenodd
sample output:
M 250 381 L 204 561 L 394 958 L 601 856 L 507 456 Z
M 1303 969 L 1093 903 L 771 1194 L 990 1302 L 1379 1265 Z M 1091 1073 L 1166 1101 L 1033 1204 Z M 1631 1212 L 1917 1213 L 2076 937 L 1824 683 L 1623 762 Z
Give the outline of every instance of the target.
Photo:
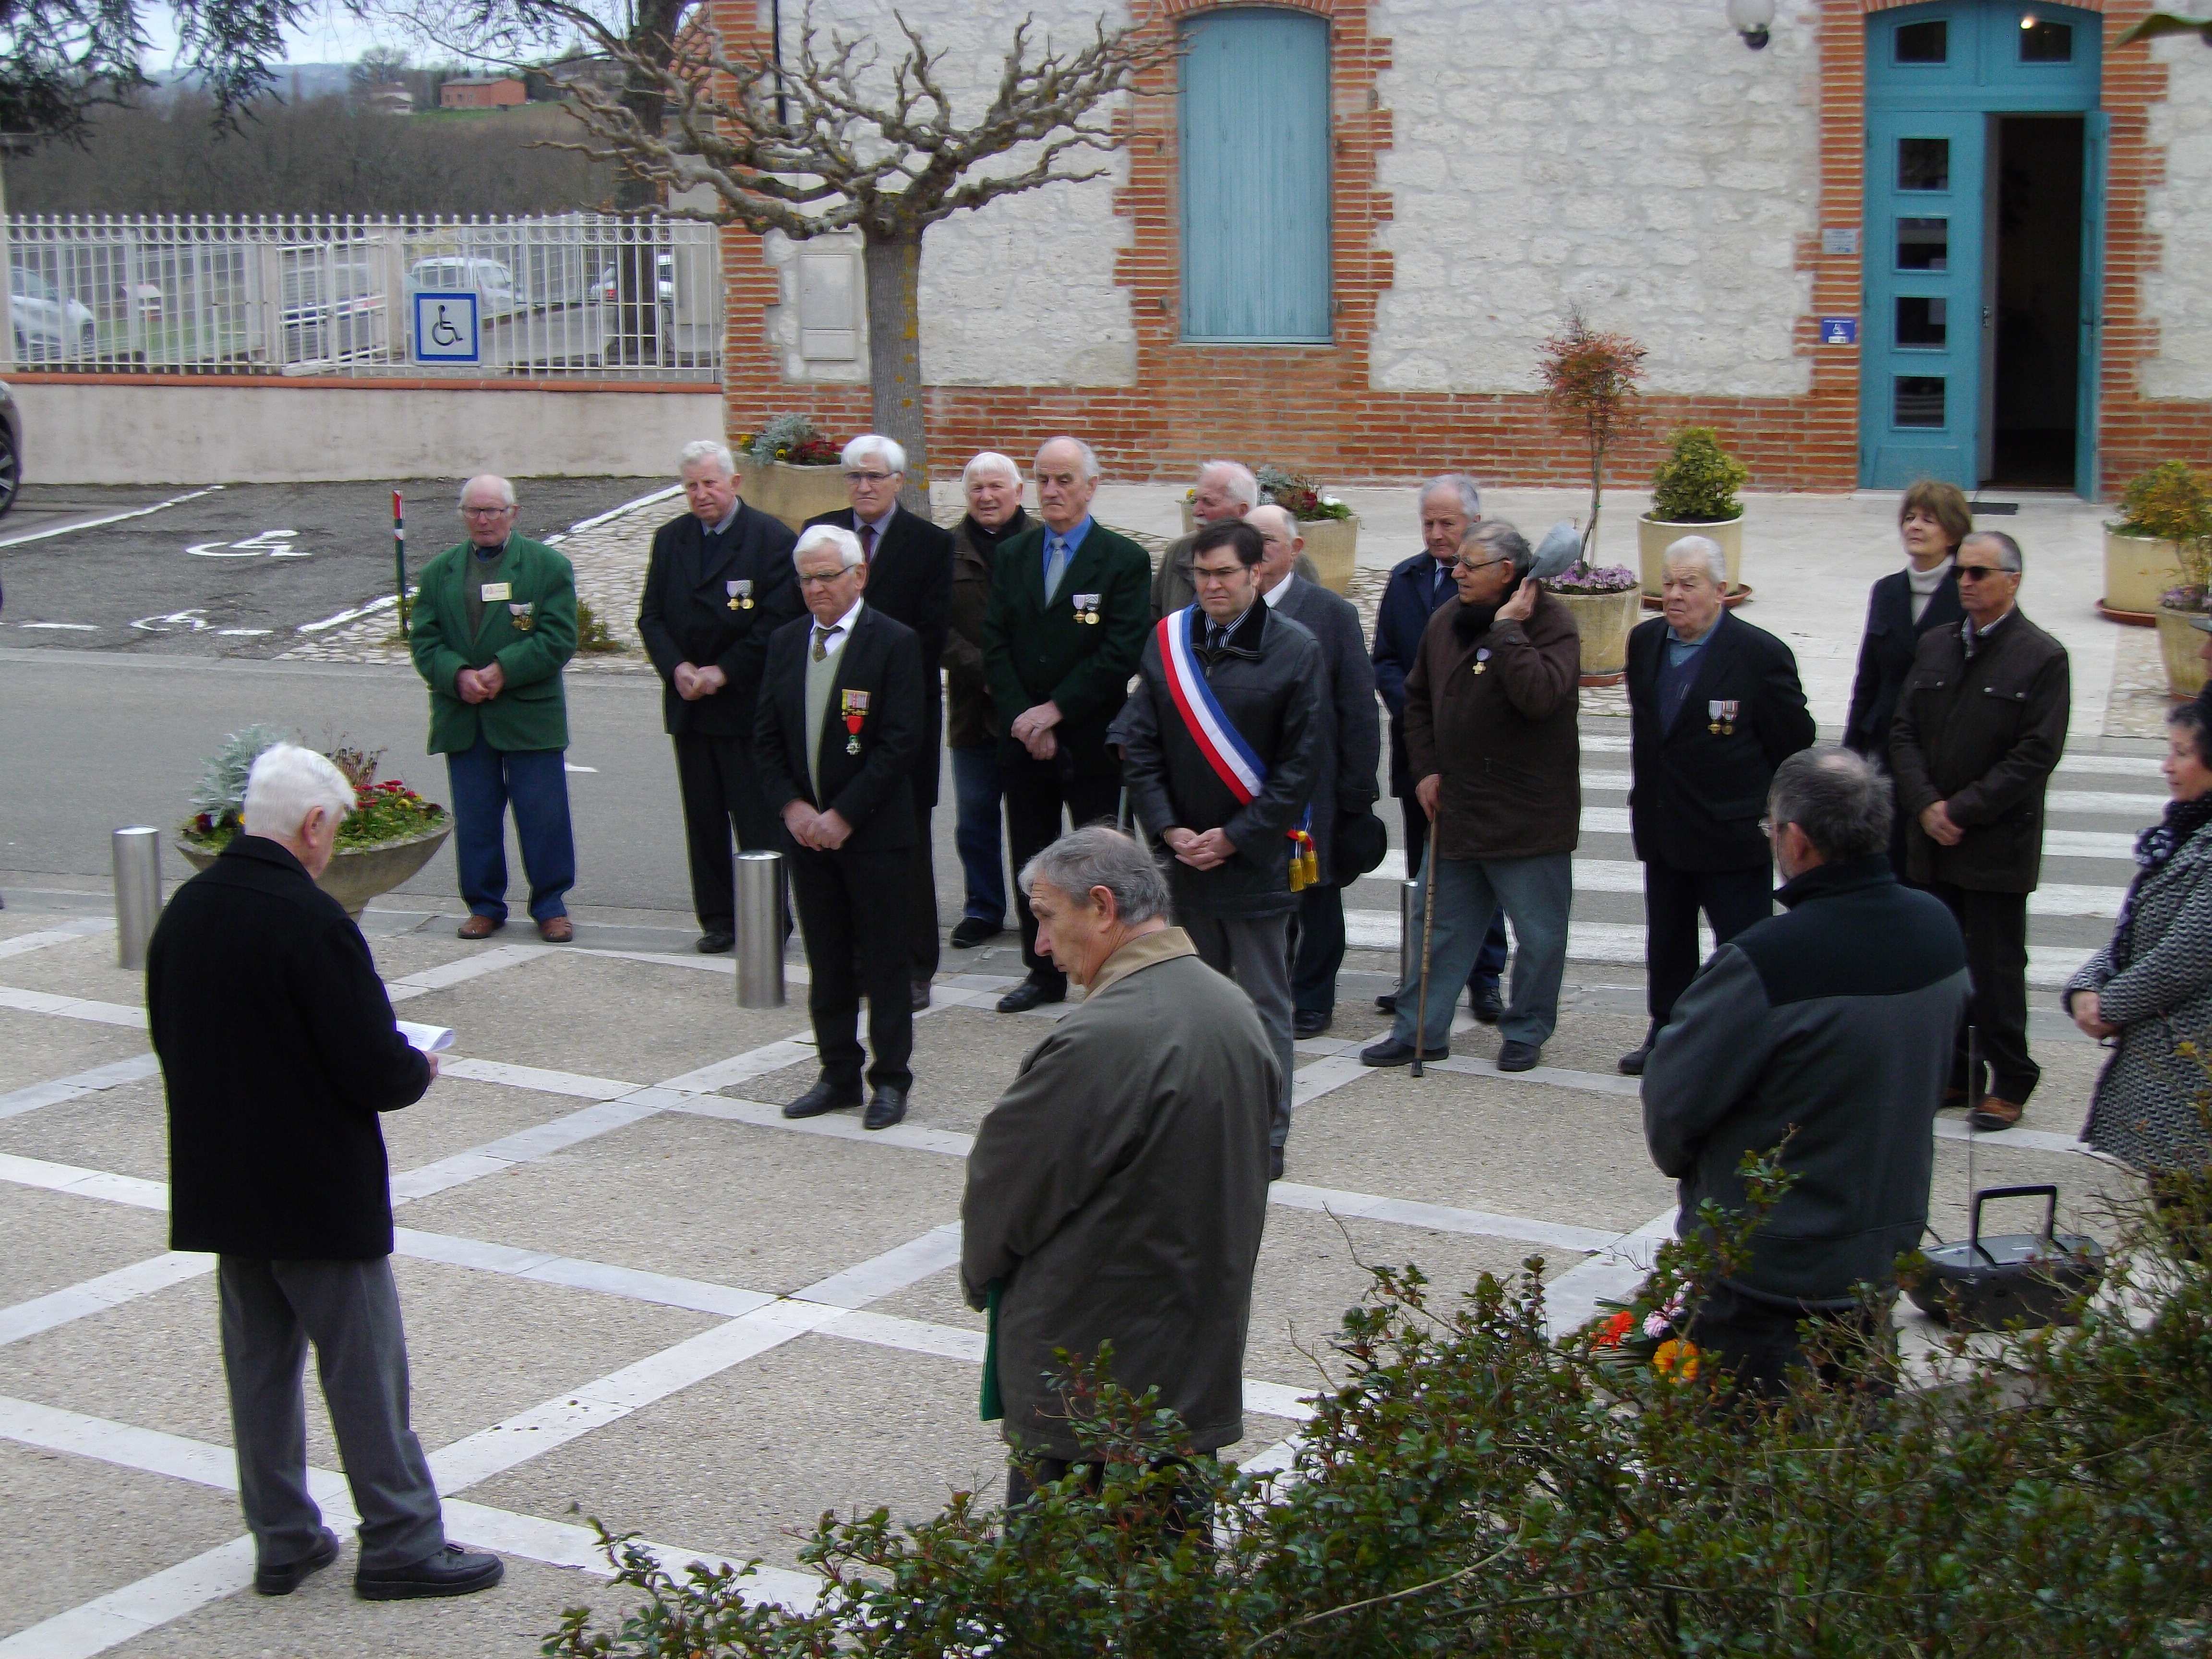
M 1573 852 L 1582 832 L 1575 706 L 1582 635 L 1553 595 L 1522 622 L 1462 639 L 1467 606 L 1429 617 L 1405 677 L 1405 752 L 1416 783 L 1444 774 L 1442 858 L 1537 858 Z M 1482 672 L 1475 672 L 1475 668 Z

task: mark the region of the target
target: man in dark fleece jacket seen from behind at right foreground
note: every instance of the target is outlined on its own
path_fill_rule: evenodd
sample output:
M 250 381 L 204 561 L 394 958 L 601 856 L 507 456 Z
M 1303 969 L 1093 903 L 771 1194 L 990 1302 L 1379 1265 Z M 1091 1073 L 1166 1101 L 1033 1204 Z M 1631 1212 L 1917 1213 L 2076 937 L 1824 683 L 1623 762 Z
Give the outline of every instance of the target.
M 1712 953 L 1644 1066 L 1644 1139 L 1681 1183 L 1679 1230 L 1743 1208 L 1736 1164 L 1787 1137 L 1796 1183 L 1712 1285 L 1690 1338 L 1776 1394 L 1803 1365 L 1798 1323 L 1893 1290 L 1920 1241 L 1936 1108 L 1966 1009 L 1966 945 L 1942 900 L 1889 869 L 1889 781 L 1847 750 L 1774 772 L 1767 827 L 1785 914 Z

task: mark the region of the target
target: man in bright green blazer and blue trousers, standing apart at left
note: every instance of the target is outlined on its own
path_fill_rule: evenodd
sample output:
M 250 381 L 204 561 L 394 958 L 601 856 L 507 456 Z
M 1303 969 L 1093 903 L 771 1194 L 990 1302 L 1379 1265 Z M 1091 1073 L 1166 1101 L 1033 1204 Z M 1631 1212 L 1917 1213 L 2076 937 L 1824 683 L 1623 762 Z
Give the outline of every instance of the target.
M 469 540 L 422 566 L 407 624 L 429 684 L 429 752 L 453 792 L 453 863 L 469 902 L 462 938 L 507 925 L 507 807 L 531 878 L 531 916 L 549 945 L 575 938 L 568 832 L 568 701 L 575 571 L 544 542 L 515 535 L 515 487 L 484 473 L 460 489 Z

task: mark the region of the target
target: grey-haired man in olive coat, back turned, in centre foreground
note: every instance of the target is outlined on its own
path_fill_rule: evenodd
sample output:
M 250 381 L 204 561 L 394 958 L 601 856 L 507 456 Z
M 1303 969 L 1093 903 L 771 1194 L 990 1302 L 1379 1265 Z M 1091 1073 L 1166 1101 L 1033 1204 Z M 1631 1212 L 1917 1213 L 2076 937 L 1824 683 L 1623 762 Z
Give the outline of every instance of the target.
M 1022 1062 L 975 1130 L 960 1285 L 995 1294 L 984 1407 L 1060 1480 L 1084 1460 L 1064 1369 L 1113 1345 L 1113 1380 L 1159 1389 L 1188 1442 L 1243 1438 L 1252 1267 L 1267 1221 L 1267 1119 L 1281 1084 L 1245 995 L 1168 927 L 1168 887 L 1128 836 L 1093 825 L 1020 872 L 1037 947 L 1082 1004 Z M 1029 1495 L 1013 1469 L 1006 1502 Z

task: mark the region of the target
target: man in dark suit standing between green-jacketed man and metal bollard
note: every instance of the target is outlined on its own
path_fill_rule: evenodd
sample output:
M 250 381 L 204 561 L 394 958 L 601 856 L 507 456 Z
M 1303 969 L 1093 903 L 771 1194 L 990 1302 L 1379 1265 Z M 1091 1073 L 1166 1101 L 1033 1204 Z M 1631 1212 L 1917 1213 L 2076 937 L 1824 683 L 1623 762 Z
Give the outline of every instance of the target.
M 637 635 L 661 670 L 661 721 L 677 745 L 699 951 L 737 936 L 730 832 L 748 852 L 779 845 L 776 810 L 752 772 L 752 712 L 768 637 L 801 613 L 790 529 L 737 498 L 737 467 L 712 438 L 684 445 L 690 511 L 653 533 Z

